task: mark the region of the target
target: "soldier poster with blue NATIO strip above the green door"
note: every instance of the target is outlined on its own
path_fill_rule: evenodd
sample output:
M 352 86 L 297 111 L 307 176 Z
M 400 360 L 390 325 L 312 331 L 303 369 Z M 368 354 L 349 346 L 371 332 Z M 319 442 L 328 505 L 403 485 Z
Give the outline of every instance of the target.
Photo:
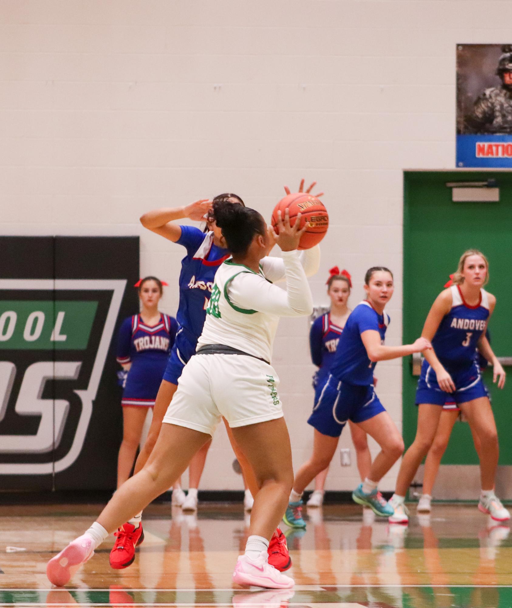
M 457 167 L 512 167 L 512 44 L 457 44 Z

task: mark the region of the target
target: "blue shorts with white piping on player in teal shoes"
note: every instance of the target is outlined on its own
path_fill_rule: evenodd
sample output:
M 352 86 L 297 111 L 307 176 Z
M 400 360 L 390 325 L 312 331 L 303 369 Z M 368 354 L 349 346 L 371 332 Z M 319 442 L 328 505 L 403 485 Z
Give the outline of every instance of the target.
M 373 385 L 347 384 L 329 376 L 316 391 L 308 424 L 323 435 L 340 437 L 347 421 L 360 423 L 385 412 Z

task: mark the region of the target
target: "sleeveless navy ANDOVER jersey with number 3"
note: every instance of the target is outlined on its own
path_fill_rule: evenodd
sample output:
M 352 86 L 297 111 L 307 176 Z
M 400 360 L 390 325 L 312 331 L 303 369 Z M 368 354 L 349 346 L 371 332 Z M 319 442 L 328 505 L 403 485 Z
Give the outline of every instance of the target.
M 469 306 L 458 285 L 452 285 L 450 289 L 452 307 L 439 324 L 432 347 L 443 366 L 468 367 L 473 364 L 477 342 L 489 317 L 488 294 L 480 289 L 479 304 Z

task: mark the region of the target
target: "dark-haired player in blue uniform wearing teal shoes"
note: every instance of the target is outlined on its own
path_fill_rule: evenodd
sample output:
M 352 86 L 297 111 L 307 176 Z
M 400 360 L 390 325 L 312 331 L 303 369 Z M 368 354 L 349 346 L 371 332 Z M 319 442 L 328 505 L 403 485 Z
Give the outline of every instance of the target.
M 313 455 L 301 466 L 293 482 L 284 517 L 285 523 L 292 528 L 305 528 L 301 514 L 302 492 L 319 472 L 329 466 L 348 420 L 373 437 L 381 447 L 370 474 L 353 491 L 352 498 L 380 516 L 393 513 L 392 507 L 377 491 L 377 485 L 400 458 L 403 439 L 375 393 L 374 369 L 377 361 L 397 359 L 431 348 L 425 338 L 418 338 L 414 344 L 384 346 L 389 324 L 384 306 L 391 299 L 393 290 L 393 275 L 389 269 L 374 266 L 366 272 L 364 291 L 367 299 L 353 309 L 344 326 L 329 379 L 308 420 L 315 429 Z

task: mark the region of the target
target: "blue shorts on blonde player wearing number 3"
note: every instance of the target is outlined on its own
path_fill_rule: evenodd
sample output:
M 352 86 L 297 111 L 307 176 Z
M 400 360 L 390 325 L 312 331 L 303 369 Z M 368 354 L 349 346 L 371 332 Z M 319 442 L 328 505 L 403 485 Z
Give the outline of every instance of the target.
M 439 384 L 437 384 L 434 370 L 432 370 L 428 361 L 423 361 L 422 373 L 418 379 L 418 388 L 416 390 L 416 405 L 420 403 L 432 403 L 444 407 L 447 402 L 459 405 L 466 401 L 473 401 L 473 399 L 489 396 L 476 362 L 473 362 L 468 367 L 457 370 L 446 369 L 446 371 L 448 371 L 456 387 L 453 393 L 446 393 L 440 388 Z

